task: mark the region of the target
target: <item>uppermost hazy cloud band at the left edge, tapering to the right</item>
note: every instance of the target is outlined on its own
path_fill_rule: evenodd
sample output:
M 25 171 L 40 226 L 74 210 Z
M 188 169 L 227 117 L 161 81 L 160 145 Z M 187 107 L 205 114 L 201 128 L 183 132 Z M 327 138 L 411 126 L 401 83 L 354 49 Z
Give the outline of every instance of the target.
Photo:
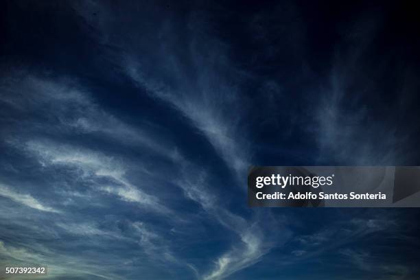
M 49 119 L 42 124 L 36 118 L 22 119 L 22 130 L 27 132 L 78 133 L 80 135 L 106 135 L 119 143 L 134 145 L 154 152 L 155 156 L 177 159 L 177 149 L 150 130 L 130 126 L 97 104 L 89 91 L 70 78 L 53 79 L 48 75 L 33 75 L 27 71 L 12 71 L 0 80 L 5 93 L 2 101 L 23 114 L 36 113 Z M 43 112 L 48 109 L 48 115 Z M 158 141 L 159 140 L 159 141 Z M 164 144 L 161 144 L 164 143 Z

